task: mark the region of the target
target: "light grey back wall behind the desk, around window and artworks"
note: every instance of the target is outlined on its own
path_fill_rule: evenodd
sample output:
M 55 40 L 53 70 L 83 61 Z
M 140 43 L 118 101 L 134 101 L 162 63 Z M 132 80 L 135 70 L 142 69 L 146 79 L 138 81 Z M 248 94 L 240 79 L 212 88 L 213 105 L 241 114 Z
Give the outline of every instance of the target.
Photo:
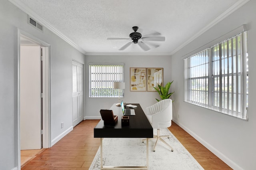
M 156 99 L 160 99 L 157 92 L 135 92 L 130 91 L 130 67 L 160 67 L 164 68 L 164 85 L 168 81 L 172 81 L 170 56 L 128 56 L 128 55 L 113 55 L 113 56 L 86 56 L 85 62 L 85 119 L 93 119 L 100 117 L 100 109 L 109 109 L 113 103 L 118 103 L 118 98 L 89 98 L 89 77 L 88 63 L 124 63 L 124 98 L 121 98 L 126 103 L 140 103 L 142 109 L 156 103 Z M 172 91 L 172 86 L 170 88 Z

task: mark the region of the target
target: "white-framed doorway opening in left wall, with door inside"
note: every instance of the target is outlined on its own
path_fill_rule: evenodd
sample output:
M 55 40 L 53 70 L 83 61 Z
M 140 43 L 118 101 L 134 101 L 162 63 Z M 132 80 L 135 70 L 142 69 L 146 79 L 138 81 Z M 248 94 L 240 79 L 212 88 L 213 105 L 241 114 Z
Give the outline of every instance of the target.
M 42 148 L 51 146 L 50 45 L 20 30 L 18 35 L 20 39 L 18 164 L 20 167 L 21 150 L 40 152 Z

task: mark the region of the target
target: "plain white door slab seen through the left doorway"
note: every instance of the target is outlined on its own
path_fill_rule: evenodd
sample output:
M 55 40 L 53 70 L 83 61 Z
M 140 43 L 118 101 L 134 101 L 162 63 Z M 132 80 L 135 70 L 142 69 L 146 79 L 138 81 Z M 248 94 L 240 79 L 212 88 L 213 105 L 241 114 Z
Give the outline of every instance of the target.
M 42 148 L 40 46 L 20 46 L 20 148 Z

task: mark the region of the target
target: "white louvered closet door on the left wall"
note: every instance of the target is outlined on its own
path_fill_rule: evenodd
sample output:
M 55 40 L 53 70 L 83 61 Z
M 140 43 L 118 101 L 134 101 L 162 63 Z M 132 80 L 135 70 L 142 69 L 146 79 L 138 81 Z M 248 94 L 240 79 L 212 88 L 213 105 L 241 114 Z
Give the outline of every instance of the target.
M 72 61 L 72 105 L 73 105 L 73 127 L 84 118 L 84 67 L 82 64 Z

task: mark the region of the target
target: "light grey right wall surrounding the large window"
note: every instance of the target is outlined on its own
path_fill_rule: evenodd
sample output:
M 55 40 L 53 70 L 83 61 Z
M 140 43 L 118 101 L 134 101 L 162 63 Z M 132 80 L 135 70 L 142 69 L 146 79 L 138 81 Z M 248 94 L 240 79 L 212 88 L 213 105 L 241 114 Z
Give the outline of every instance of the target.
M 216 24 L 196 40 L 172 55 L 171 77 L 174 80 L 173 117 L 176 123 L 192 134 L 202 144 L 234 169 L 256 168 L 256 116 L 254 105 L 256 90 L 256 1 L 251 0 L 242 8 Z M 249 54 L 249 120 L 234 117 L 185 103 L 183 92 L 183 58 L 202 45 L 238 28 L 248 25 Z M 179 115 L 179 118 L 178 118 Z

